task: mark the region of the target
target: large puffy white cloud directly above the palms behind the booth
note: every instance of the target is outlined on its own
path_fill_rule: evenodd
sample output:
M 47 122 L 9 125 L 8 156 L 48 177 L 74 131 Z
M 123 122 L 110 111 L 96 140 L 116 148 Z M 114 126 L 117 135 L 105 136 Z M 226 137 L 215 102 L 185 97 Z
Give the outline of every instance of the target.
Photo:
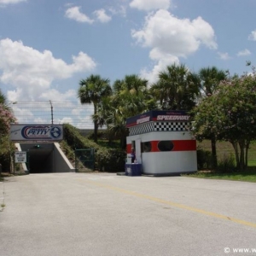
M 201 17 L 181 20 L 164 9 L 149 14 L 143 28 L 131 31 L 131 36 L 137 44 L 150 49 L 149 57 L 156 62 L 149 80 L 154 80 L 163 65 L 178 63 L 178 58 L 195 53 L 201 45 L 209 49 L 218 46 L 212 26 L 207 21 Z

